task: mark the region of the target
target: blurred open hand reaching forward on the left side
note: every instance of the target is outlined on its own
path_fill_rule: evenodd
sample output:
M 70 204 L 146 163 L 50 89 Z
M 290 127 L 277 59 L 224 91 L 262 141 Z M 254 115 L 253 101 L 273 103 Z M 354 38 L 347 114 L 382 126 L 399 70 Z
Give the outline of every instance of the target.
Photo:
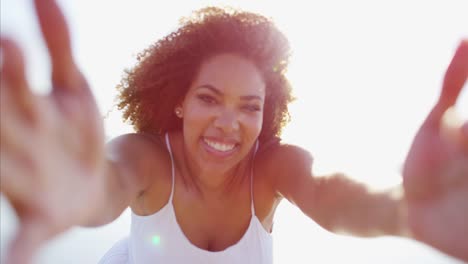
M 105 185 L 103 122 L 77 68 L 65 18 L 53 0 L 35 0 L 52 62 L 52 90 L 32 93 L 22 52 L 1 39 L 1 192 L 19 218 L 7 263 L 28 263 L 45 240 L 85 223 Z

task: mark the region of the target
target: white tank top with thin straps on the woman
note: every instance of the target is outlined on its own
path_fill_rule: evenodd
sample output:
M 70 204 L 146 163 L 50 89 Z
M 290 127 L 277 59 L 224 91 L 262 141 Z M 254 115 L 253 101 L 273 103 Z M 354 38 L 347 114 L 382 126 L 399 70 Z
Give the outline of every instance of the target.
M 251 219 L 247 231 L 234 245 L 222 251 L 207 251 L 193 245 L 177 223 L 172 203 L 175 185 L 174 158 L 169 136 L 166 145 L 172 163 L 172 190 L 168 203 L 158 212 L 140 216 L 132 212 L 130 236 L 119 241 L 99 263 L 112 264 L 271 264 L 273 263 L 273 243 L 260 220 L 255 215 L 253 203 L 252 176 L 250 173 Z M 256 153 L 258 142 L 255 147 Z

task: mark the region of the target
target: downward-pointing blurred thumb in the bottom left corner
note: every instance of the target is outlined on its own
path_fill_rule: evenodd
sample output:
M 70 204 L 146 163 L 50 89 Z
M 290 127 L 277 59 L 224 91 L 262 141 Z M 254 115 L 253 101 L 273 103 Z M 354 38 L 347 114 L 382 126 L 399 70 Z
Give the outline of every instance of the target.
M 6 264 L 32 263 L 33 257 L 41 244 L 47 240 L 47 227 L 32 220 L 21 223 L 16 237 L 10 244 Z

